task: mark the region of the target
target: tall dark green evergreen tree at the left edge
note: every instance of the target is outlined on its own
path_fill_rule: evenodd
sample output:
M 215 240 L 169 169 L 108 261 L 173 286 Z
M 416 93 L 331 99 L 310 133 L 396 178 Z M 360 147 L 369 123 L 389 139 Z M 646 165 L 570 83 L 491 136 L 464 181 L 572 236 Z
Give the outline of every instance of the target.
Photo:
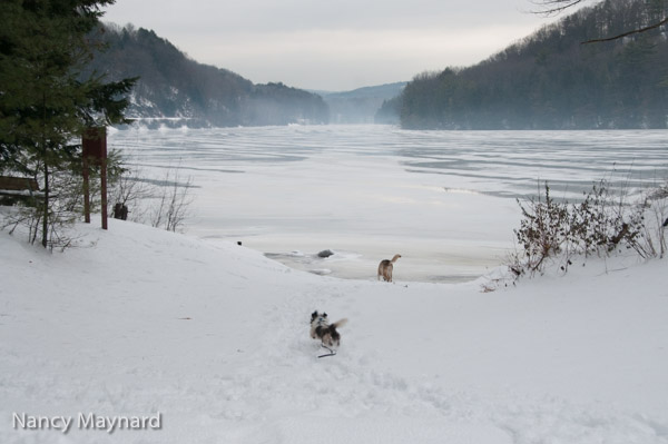
M 72 177 L 86 127 L 126 121 L 124 96 L 135 79 L 104 82 L 82 76 L 101 7 L 115 0 L 0 2 L 0 171 L 35 177 L 42 187 L 41 244 L 60 213 L 55 178 Z

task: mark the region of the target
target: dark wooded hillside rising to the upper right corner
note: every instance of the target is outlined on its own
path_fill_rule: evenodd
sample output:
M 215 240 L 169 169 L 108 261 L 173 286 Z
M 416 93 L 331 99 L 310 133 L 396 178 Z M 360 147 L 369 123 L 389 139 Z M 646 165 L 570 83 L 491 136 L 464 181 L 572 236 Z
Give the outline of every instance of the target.
M 668 2 L 607 0 L 469 68 L 416 76 L 386 103 L 409 129 L 666 128 Z

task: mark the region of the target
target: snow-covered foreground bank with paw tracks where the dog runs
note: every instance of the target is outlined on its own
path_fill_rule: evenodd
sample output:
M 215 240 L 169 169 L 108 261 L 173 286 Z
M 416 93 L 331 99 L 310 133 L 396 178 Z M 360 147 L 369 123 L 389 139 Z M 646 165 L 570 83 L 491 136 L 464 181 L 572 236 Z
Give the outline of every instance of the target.
M 78 229 L 63 254 L 0 233 L 1 443 L 668 443 L 665 260 L 482 293 Z M 334 357 L 314 309 L 350 319 Z M 110 434 L 12 424 L 158 412 L 160 430 Z

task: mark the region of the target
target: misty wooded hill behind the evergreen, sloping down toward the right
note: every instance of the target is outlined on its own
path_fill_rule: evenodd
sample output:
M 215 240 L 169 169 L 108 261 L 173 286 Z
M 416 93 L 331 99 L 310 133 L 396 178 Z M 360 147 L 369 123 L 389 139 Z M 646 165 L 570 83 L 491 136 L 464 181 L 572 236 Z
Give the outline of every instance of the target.
M 327 124 L 314 93 L 283 83 L 254 85 L 226 69 L 202 65 L 154 31 L 107 24 L 96 38 L 108 49 L 90 69 L 110 80 L 139 77 L 128 116 L 148 127 L 228 127 Z

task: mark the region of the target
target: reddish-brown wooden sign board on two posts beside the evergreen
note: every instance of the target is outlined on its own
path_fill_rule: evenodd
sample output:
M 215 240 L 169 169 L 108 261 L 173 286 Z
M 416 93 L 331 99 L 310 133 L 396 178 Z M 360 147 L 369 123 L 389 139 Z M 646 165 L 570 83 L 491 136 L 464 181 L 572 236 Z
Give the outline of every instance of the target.
M 100 167 L 102 229 L 107 229 L 107 128 L 88 128 L 81 137 L 84 151 L 84 219 L 90 224 L 90 165 Z

